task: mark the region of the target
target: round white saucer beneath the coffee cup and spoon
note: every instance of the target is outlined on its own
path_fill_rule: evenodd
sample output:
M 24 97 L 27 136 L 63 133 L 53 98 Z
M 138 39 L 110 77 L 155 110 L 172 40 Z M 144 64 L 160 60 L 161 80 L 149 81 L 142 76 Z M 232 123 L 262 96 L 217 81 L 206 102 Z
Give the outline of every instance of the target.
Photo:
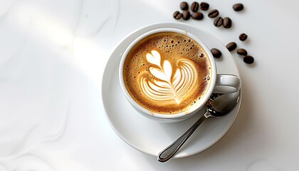
M 181 28 L 190 31 L 206 43 L 206 46 L 210 49 L 218 48 L 222 52 L 222 56 L 216 59 L 217 73 L 234 74 L 240 78 L 231 53 L 217 38 L 200 28 L 182 23 L 152 24 L 140 28 L 124 38 L 112 52 L 105 67 L 102 85 L 105 113 L 111 127 L 122 140 L 141 152 L 155 156 L 164 147 L 167 147 L 167 145 L 179 138 L 205 112 L 203 109 L 198 115 L 194 115 L 192 118 L 179 123 L 158 123 L 137 113 L 122 93 L 118 81 L 118 65 L 121 54 L 137 36 L 154 28 L 164 27 Z M 234 123 L 240 105 L 241 97 L 238 105 L 229 115 L 220 119 L 210 118 L 206 120 L 174 158 L 188 157 L 214 145 Z

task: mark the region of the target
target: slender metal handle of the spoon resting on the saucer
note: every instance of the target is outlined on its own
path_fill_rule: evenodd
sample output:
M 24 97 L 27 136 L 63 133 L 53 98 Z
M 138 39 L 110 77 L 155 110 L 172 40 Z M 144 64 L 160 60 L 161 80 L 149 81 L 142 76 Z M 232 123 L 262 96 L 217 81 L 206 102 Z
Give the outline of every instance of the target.
M 181 137 L 177 138 L 177 140 L 172 142 L 171 145 L 159 152 L 159 155 L 157 157 L 158 161 L 167 162 L 169 159 L 171 159 L 182 147 L 182 145 L 184 145 L 184 142 L 186 142 L 192 135 L 192 133 L 194 133 L 194 131 L 199 127 L 199 125 L 201 125 L 201 123 L 203 123 L 204 120 L 206 120 L 206 118 L 209 118 L 210 116 L 211 114 L 206 111 L 206 113 L 204 113 L 204 115 L 202 115 L 201 118 L 199 118 L 199 120 L 197 120 L 196 123 L 194 123 Z

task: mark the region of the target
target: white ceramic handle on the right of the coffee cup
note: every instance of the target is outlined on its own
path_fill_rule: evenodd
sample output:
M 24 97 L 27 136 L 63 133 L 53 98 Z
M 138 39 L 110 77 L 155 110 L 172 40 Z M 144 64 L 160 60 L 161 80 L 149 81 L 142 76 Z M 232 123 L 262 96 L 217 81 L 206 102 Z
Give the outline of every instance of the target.
M 241 88 L 238 76 L 231 74 L 217 74 L 213 93 L 235 93 Z

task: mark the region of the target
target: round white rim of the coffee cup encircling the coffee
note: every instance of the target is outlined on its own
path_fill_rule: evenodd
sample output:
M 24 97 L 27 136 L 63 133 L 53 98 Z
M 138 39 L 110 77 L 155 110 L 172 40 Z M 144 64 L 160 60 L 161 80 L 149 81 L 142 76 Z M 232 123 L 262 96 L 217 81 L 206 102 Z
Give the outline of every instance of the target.
M 146 108 L 142 107 L 142 105 L 138 104 L 134 100 L 134 98 L 131 97 L 130 93 L 127 91 L 127 88 L 125 86 L 125 81 L 123 79 L 123 69 L 124 69 L 125 59 L 127 58 L 127 54 L 130 53 L 131 49 L 143 38 L 146 38 L 147 36 L 150 36 L 154 33 L 162 33 L 162 32 L 181 33 L 184 36 L 191 38 L 193 41 L 196 41 L 204 49 L 204 51 L 206 52 L 206 54 L 209 58 L 209 61 L 211 63 L 211 76 L 210 76 L 211 83 L 209 84 L 208 90 L 206 90 L 205 94 L 203 96 L 201 96 L 201 100 L 199 100 L 199 103 L 196 103 L 196 105 L 192 106 L 192 108 L 189 108 L 188 110 L 184 110 L 181 113 L 162 114 L 162 113 L 154 113 L 150 110 L 147 110 Z M 142 35 L 138 36 L 134 41 L 132 41 L 130 43 L 129 46 L 127 46 L 127 48 L 125 49 L 125 52 L 122 53 L 122 56 L 120 59 L 119 79 L 120 79 L 120 86 L 122 88 L 122 92 L 125 93 L 125 97 L 127 98 L 127 100 L 129 100 L 130 103 L 135 108 L 140 110 L 142 113 L 150 115 L 154 118 L 180 119 L 180 118 L 185 118 L 187 116 L 193 115 L 194 113 L 196 113 L 196 111 L 200 110 L 204 106 L 204 104 L 206 103 L 207 100 L 209 100 L 209 97 L 210 97 L 211 93 L 213 92 L 214 86 L 216 84 L 216 63 L 214 61 L 214 57 L 211 54 L 211 51 L 209 50 L 209 48 L 197 36 L 194 36 L 194 34 L 189 33 L 189 31 L 185 31 L 185 30 L 182 30 L 179 28 L 156 28 L 156 29 L 147 31 L 146 33 L 143 33 Z M 191 115 L 189 115 L 189 114 L 191 114 Z

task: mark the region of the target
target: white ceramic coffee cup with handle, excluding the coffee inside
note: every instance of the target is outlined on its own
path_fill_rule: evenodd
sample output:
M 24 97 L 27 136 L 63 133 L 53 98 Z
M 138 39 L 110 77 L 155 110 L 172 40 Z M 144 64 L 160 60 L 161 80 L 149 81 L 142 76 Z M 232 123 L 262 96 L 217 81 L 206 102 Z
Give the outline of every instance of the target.
M 134 98 L 130 95 L 128 92 L 125 81 L 124 81 L 124 64 L 125 60 L 127 58 L 128 53 L 132 50 L 132 48 L 140 41 L 142 41 L 147 36 L 150 36 L 154 33 L 161 33 L 161 32 L 174 32 L 179 33 L 184 36 L 187 36 L 188 38 L 191 38 L 193 41 L 196 41 L 199 43 L 199 45 L 203 48 L 205 51 L 207 58 L 209 58 L 209 61 L 211 63 L 211 76 L 209 76 L 210 83 L 209 88 L 207 88 L 206 93 L 201 96 L 200 100 L 196 102 L 196 104 L 192 105 L 191 108 L 188 110 L 184 110 L 180 113 L 174 113 L 174 114 L 164 114 L 164 113 L 157 113 L 153 112 L 152 110 L 148 110 L 147 108 L 143 107 L 139 103 L 137 103 Z M 150 73 L 149 73 L 150 74 Z M 229 75 L 229 74 L 216 74 L 216 63 L 214 61 L 214 56 L 211 54 L 209 48 L 206 47 L 206 45 L 194 34 L 189 33 L 187 31 L 178 29 L 178 28 L 157 28 L 152 31 L 148 31 L 147 33 L 142 34 L 138 38 L 136 38 L 130 45 L 126 48 L 125 52 L 122 53 L 122 58 L 120 60 L 120 66 L 119 66 L 119 79 L 120 79 L 120 86 L 122 88 L 122 91 L 127 98 L 128 102 L 137 110 L 138 113 L 145 115 L 147 118 L 157 120 L 160 122 L 178 122 L 184 119 L 187 119 L 194 115 L 197 111 L 199 111 L 201 108 L 203 108 L 209 100 L 212 93 L 233 93 L 241 88 L 241 81 L 237 76 Z

